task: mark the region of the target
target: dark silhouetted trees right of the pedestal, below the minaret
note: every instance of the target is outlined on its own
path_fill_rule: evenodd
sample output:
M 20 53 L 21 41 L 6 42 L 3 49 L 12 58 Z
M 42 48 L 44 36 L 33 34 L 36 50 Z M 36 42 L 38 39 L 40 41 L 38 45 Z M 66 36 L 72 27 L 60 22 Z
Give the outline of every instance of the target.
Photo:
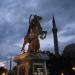
M 47 68 L 50 75 L 75 75 L 75 44 L 70 44 L 64 48 L 62 55 L 56 57 L 55 54 L 49 53 Z

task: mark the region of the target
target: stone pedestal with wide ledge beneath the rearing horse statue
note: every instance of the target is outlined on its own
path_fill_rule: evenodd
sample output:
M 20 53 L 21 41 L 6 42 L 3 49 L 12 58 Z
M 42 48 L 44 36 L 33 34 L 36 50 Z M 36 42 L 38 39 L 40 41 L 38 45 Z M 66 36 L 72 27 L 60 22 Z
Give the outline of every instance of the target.
M 46 60 L 47 54 L 24 53 L 14 58 L 17 63 L 17 75 L 47 75 Z

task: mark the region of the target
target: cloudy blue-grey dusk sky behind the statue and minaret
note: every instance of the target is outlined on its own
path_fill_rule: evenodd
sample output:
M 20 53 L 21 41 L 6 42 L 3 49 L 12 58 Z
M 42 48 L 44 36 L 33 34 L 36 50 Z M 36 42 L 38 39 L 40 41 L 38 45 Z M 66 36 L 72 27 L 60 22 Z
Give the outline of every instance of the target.
M 40 40 L 41 50 L 54 52 L 53 16 L 60 53 L 66 45 L 75 43 L 75 0 L 0 0 L 0 65 L 21 53 L 31 14 L 42 16 L 41 25 L 48 32 L 46 39 Z

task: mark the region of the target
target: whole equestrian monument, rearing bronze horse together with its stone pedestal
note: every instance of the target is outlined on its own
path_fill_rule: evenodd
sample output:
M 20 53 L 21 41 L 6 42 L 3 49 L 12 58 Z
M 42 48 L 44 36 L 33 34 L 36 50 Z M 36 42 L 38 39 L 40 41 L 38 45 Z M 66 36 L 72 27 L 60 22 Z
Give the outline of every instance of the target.
M 31 15 L 29 18 L 29 28 L 21 51 L 14 61 L 17 62 L 17 75 L 47 75 L 46 60 L 49 59 L 46 53 L 40 52 L 39 37 L 46 38 L 47 31 L 43 31 L 40 21 L 42 17 Z M 29 43 L 28 50 L 24 47 Z

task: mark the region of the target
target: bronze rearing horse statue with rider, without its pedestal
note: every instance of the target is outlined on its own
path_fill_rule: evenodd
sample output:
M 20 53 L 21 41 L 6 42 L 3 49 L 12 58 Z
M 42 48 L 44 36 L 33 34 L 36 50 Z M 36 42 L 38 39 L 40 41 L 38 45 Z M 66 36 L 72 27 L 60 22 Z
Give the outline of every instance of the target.
M 29 29 L 26 36 L 24 37 L 24 43 L 21 51 L 25 52 L 24 47 L 27 43 L 29 43 L 27 52 L 39 52 L 40 43 L 38 36 L 40 36 L 41 39 L 45 39 L 47 35 L 47 31 L 43 31 L 40 25 L 41 19 L 42 17 L 37 15 L 30 16 Z

